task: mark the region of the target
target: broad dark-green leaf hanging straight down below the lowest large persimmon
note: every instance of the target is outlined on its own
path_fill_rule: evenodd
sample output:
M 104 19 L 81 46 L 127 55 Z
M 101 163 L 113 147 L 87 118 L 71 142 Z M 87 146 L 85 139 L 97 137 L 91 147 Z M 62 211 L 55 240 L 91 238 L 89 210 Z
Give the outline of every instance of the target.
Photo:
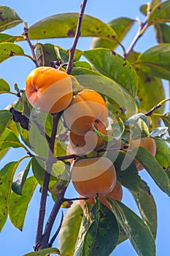
M 119 226 L 115 214 L 99 201 L 93 206 L 93 222 L 85 234 L 82 255 L 109 256 L 117 246 Z

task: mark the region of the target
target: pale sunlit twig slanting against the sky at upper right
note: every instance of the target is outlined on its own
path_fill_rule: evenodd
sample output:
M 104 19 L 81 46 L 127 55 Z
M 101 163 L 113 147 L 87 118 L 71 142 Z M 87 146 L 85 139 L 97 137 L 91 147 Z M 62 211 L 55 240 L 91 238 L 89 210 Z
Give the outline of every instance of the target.
M 147 25 L 147 22 L 148 22 L 148 19 L 150 17 L 150 13 L 151 13 L 151 9 L 149 9 L 147 11 L 147 17 L 146 19 L 144 20 L 143 23 L 140 23 L 139 24 L 139 30 L 137 31 L 136 33 L 136 36 L 134 37 L 134 40 L 131 42 L 131 45 L 129 46 L 128 50 L 126 51 L 124 57 L 125 59 L 128 58 L 129 54 L 131 53 L 131 51 L 134 49 L 134 45 L 136 45 L 136 42 L 138 41 L 139 37 L 142 36 L 142 34 L 144 33 L 144 27 Z

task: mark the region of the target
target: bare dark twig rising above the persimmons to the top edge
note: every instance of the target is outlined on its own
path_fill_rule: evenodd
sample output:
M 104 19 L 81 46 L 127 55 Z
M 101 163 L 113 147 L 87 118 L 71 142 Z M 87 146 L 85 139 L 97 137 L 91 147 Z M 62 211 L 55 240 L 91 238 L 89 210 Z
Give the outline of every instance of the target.
M 88 0 L 82 1 L 81 7 L 80 7 L 80 14 L 79 14 L 79 19 L 78 19 L 78 23 L 77 23 L 76 34 L 75 34 L 75 37 L 74 37 L 74 42 L 73 42 L 72 48 L 70 48 L 69 62 L 68 62 L 67 68 L 66 68 L 66 72 L 68 74 L 71 74 L 71 72 L 72 72 L 74 52 L 76 50 L 77 42 L 78 42 L 79 37 L 81 35 L 82 17 L 83 17 L 83 14 L 85 12 L 85 6 L 87 4 L 87 1 Z

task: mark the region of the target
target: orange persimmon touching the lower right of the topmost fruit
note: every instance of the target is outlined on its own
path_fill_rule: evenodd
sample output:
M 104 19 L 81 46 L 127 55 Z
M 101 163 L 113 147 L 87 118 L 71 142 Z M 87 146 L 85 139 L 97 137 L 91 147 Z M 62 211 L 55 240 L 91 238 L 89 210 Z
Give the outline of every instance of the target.
M 107 120 L 108 110 L 106 102 L 98 92 L 85 89 L 74 95 L 63 116 L 72 132 L 85 135 L 96 119 L 102 123 Z

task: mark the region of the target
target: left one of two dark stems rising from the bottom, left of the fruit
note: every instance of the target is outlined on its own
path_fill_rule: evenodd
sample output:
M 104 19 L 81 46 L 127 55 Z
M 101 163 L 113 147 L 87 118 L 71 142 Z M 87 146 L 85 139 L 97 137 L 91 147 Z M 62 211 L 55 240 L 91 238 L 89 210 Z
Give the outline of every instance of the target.
M 43 230 L 43 225 L 44 225 L 44 220 L 45 220 L 45 208 L 46 208 L 46 202 L 47 202 L 47 190 L 48 190 L 48 185 L 50 182 L 50 172 L 53 166 L 54 158 L 53 158 L 53 148 L 54 148 L 54 143 L 55 143 L 55 135 L 57 132 L 57 127 L 58 127 L 58 121 L 61 118 L 61 114 L 57 113 L 53 116 L 53 130 L 51 133 L 51 138 L 50 138 L 50 144 L 49 144 L 49 154 L 47 158 L 47 166 L 46 166 L 46 171 L 45 171 L 45 178 L 44 178 L 44 184 L 42 187 L 42 197 L 40 201 L 40 206 L 39 206 L 39 219 L 37 223 L 37 228 L 36 228 L 36 241 L 35 241 L 35 246 L 34 250 L 38 251 L 39 246 L 43 248 L 47 247 L 47 244 L 44 245 L 42 244 L 42 230 Z

